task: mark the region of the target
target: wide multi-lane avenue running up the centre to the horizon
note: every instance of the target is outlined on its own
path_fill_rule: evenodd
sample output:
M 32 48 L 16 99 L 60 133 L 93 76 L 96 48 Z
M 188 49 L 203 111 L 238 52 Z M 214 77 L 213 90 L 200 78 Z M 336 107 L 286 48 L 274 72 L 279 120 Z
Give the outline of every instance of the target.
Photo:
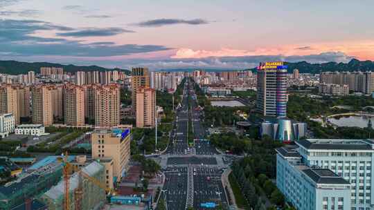
M 190 102 L 189 95 L 193 96 Z M 177 109 L 171 142 L 161 155 L 161 167 L 166 177 L 162 196 L 167 209 L 228 206 L 221 180 L 227 166 L 222 160 L 223 155 L 204 139 L 206 130 L 201 123 L 202 114 L 197 108 L 193 84 L 187 80 L 181 106 Z M 195 139 L 193 146 L 188 146 L 188 117 L 191 117 Z

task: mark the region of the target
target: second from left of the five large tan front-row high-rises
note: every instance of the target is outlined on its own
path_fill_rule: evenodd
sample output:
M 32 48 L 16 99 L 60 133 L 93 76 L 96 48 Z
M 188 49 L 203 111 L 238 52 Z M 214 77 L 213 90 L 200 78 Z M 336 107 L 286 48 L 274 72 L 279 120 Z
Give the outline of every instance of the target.
M 31 90 L 33 124 L 51 126 L 53 124 L 53 102 L 51 87 L 34 86 Z

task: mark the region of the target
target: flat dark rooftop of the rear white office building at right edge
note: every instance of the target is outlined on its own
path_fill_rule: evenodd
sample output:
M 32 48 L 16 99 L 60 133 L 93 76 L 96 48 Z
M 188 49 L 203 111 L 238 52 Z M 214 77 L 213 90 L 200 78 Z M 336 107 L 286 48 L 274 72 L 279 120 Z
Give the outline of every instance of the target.
M 373 150 L 374 140 L 330 140 L 330 139 L 307 139 L 296 142 L 305 149 L 319 150 Z

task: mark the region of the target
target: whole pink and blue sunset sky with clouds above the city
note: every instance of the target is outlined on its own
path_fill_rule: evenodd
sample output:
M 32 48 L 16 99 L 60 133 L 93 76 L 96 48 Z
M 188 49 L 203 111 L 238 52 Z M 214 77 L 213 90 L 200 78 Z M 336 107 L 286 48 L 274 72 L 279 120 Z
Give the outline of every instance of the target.
M 372 8 L 372 0 L 0 0 L 0 59 L 152 70 L 374 60 Z

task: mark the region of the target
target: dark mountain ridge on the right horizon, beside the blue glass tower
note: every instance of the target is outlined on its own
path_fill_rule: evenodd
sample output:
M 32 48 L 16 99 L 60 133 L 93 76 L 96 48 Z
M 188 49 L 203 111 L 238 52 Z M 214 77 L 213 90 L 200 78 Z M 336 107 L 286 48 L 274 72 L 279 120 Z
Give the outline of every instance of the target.
M 300 73 L 312 74 L 319 74 L 324 71 L 374 71 L 374 61 L 359 61 L 357 59 L 352 59 L 347 64 L 337 62 L 309 64 L 306 61 L 300 61 L 296 63 L 285 62 L 285 65 L 287 65 L 289 73 L 292 73 L 295 68 L 299 69 Z M 256 68 L 251 70 L 256 70 Z

